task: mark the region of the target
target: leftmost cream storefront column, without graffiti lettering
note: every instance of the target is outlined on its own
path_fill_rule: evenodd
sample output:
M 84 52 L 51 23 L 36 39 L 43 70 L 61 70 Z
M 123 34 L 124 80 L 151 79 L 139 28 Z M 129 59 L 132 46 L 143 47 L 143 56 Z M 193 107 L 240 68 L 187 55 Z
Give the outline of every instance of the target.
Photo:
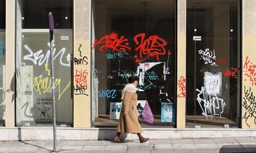
M 6 1 L 6 127 L 15 125 L 15 0 Z

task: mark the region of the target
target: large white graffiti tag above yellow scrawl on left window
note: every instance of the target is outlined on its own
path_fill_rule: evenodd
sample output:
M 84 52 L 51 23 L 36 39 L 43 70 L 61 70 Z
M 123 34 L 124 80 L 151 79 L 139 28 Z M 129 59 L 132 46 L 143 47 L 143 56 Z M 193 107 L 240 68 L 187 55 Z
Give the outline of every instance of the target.
M 48 43 L 48 46 L 50 47 L 50 43 Z M 54 47 L 54 46 L 55 46 L 55 44 L 53 44 L 53 47 Z M 25 56 L 23 57 L 24 60 L 31 60 L 35 65 L 37 65 L 37 60 L 38 60 L 38 65 L 40 65 L 40 66 L 43 65 L 43 64 L 47 64 L 47 63 L 48 63 L 48 60 L 49 60 L 50 54 L 51 54 L 50 50 L 47 50 L 46 55 L 44 55 L 44 54 L 42 54 L 42 52 L 43 52 L 42 49 L 41 49 L 41 50 L 38 50 L 36 53 L 34 53 L 33 50 L 32 50 L 30 47 L 28 47 L 27 44 L 24 45 L 24 48 L 30 53 L 30 54 L 25 55 Z M 63 62 L 62 62 L 62 58 L 63 58 L 63 55 L 65 54 L 65 52 L 66 52 L 66 48 L 63 47 L 63 48 L 60 50 L 60 52 L 58 52 L 58 53 L 55 55 L 55 53 L 56 53 L 56 48 L 54 48 L 54 49 L 53 49 L 53 55 L 54 55 L 53 60 L 55 60 L 55 59 L 58 57 L 58 55 L 61 54 L 61 57 L 60 57 L 60 64 L 63 65 L 63 66 L 65 66 L 65 67 L 70 67 L 70 60 L 71 60 L 70 54 L 67 54 L 67 56 L 66 56 L 66 58 L 67 58 L 67 63 L 63 63 Z

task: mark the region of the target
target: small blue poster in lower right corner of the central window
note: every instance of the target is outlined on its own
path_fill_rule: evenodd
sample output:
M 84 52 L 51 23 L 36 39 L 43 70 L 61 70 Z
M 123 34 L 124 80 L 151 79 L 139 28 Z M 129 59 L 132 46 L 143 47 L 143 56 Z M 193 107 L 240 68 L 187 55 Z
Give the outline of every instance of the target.
M 161 122 L 174 122 L 174 103 L 161 103 Z

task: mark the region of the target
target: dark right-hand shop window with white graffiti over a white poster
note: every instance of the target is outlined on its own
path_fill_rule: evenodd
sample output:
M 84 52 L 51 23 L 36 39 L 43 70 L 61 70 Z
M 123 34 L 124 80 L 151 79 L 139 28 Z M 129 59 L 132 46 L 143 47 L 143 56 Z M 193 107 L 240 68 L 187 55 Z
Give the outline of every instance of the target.
M 186 126 L 240 126 L 240 1 L 187 0 Z

